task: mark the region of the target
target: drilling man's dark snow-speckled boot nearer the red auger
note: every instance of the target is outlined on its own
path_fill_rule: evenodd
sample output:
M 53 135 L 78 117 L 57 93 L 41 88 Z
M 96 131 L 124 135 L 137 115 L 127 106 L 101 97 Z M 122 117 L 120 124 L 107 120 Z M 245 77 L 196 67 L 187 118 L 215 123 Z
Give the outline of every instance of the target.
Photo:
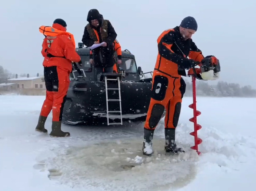
M 185 152 L 182 148 L 178 148 L 176 145 L 174 128 L 165 128 L 164 134 L 165 134 L 164 150 L 166 153 Z

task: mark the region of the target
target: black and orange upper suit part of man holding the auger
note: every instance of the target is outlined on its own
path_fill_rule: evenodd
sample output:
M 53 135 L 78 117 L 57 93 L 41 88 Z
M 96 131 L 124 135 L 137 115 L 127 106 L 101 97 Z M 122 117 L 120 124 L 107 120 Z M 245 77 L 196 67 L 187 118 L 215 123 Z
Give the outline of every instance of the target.
M 158 38 L 158 52 L 159 62 L 156 63 L 155 69 L 164 70 L 163 72 L 167 70 L 167 73 L 173 76 L 177 76 L 177 74 L 186 76 L 184 68 L 189 65 L 187 56 L 197 62 L 204 58 L 201 50 L 197 48 L 191 38 L 186 41 L 183 39 L 178 26 L 162 32 Z M 171 62 L 170 65 L 164 66 L 166 62 L 163 62 L 162 58 L 166 59 L 166 62 Z M 172 66 L 172 64 L 176 66 Z

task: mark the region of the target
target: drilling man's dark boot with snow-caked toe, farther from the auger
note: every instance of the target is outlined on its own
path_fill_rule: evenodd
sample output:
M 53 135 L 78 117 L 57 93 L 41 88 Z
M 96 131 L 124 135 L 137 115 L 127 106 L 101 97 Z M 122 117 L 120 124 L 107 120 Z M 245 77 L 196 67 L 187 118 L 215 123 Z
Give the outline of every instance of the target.
M 144 155 L 150 156 L 153 154 L 152 140 L 153 140 L 154 130 L 149 130 L 144 128 L 144 138 L 142 152 Z

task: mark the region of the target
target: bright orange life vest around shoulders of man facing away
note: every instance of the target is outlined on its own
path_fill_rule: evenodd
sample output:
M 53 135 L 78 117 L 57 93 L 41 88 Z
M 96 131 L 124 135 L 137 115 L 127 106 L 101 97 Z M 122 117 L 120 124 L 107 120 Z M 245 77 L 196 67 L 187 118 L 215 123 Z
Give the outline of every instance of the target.
M 72 35 L 70 32 L 65 32 L 65 31 L 62 31 L 62 30 L 58 30 L 58 29 L 56 29 L 54 27 L 50 27 L 50 26 L 40 26 L 39 31 L 41 33 L 43 33 L 45 38 L 47 38 L 48 40 L 51 37 L 56 37 L 56 36 L 61 35 L 61 34 L 67 34 L 67 35 L 69 35 L 69 38 L 72 40 L 72 42 L 74 44 L 74 47 L 75 47 L 74 35 Z M 51 40 L 49 40 L 47 42 L 51 43 Z

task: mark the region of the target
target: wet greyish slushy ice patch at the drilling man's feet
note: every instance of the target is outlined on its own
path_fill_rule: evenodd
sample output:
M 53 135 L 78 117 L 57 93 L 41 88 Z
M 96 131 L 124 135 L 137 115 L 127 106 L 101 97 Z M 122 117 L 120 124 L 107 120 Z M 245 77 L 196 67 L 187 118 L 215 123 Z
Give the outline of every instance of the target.
M 39 161 L 39 164 L 44 164 L 41 170 L 54 169 L 53 173 L 50 172 L 50 178 L 57 178 L 71 187 L 84 188 L 90 185 L 104 187 L 105 190 L 140 190 L 150 187 L 159 190 L 168 188 L 169 184 L 172 187 L 186 185 L 195 176 L 193 161 L 197 160 L 198 155 L 188 152 L 173 157 L 165 156 L 163 141 L 156 141 L 159 142 L 156 142 L 155 149 L 159 152 L 151 157 L 141 154 L 140 139 L 103 141 L 68 148 L 56 145 L 54 156 Z

